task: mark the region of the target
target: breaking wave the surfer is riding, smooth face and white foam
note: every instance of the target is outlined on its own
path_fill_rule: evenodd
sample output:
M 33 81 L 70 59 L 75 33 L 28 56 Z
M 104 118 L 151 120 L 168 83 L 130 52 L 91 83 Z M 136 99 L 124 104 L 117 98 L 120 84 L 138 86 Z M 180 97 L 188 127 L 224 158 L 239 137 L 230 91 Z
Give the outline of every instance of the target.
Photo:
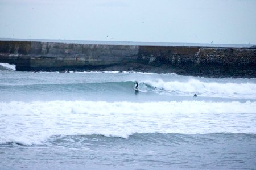
M 96 83 L 56 83 L 56 84 L 6 84 L 0 85 L 0 89 L 6 91 L 54 91 L 77 92 L 86 94 L 86 92 L 103 94 L 131 94 L 134 82 L 96 82 Z M 220 82 L 203 82 L 197 79 L 187 81 L 168 81 L 163 80 L 145 80 L 139 82 L 139 91 L 144 93 L 155 93 L 159 95 L 172 96 L 197 96 L 204 97 L 221 97 L 231 99 L 256 99 L 256 83 L 220 83 Z

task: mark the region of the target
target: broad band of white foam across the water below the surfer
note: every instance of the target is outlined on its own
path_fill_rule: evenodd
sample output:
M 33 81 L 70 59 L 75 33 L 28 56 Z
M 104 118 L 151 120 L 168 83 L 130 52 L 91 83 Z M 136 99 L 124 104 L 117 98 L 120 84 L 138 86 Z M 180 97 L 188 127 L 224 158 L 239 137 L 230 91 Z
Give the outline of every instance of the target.
M 256 133 L 255 108 L 250 101 L 0 103 L 0 143 L 38 144 L 52 135 Z

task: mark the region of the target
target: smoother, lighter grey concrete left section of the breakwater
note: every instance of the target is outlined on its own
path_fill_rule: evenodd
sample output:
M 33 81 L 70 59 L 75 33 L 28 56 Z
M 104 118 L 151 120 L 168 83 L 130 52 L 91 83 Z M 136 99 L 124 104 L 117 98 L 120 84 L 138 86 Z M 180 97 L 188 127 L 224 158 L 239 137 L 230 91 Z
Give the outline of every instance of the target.
M 55 70 L 134 61 L 138 46 L 0 41 L 0 54 L 0 62 L 13 63 L 20 71 Z

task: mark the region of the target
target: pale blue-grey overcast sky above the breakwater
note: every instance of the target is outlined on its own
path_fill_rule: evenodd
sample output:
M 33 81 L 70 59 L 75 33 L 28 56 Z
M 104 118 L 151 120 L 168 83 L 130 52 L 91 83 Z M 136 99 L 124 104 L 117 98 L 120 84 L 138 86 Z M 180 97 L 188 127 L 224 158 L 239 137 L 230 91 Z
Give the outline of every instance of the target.
M 256 44 L 256 0 L 0 0 L 0 38 Z

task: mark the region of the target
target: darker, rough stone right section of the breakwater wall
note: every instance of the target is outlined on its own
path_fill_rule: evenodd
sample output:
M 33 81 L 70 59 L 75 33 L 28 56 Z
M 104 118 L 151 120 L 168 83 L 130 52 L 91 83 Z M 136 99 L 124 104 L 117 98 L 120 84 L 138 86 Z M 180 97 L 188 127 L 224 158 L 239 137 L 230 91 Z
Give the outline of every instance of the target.
M 141 61 L 196 76 L 256 77 L 255 48 L 139 46 Z

